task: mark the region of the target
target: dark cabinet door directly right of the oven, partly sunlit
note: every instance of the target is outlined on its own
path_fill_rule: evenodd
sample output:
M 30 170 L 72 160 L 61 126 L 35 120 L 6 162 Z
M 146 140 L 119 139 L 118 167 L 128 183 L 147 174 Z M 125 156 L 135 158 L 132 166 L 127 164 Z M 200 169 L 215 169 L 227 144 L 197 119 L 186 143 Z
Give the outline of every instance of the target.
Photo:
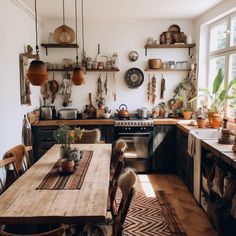
M 175 125 L 156 125 L 153 133 L 153 169 L 175 172 Z

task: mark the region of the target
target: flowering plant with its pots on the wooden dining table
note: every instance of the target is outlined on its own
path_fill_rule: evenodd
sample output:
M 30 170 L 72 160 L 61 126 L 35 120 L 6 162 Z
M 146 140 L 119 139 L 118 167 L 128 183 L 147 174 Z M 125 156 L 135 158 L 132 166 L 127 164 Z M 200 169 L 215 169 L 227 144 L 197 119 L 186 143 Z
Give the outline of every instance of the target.
M 74 168 L 74 156 L 71 155 L 73 152 L 71 144 L 74 143 L 76 139 L 80 139 L 82 134 L 82 129 L 71 129 L 68 125 L 61 125 L 53 132 L 53 138 L 57 143 L 61 144 L 60 156 L 62 159 L 62 168 L 66 171 L 70 172 Z

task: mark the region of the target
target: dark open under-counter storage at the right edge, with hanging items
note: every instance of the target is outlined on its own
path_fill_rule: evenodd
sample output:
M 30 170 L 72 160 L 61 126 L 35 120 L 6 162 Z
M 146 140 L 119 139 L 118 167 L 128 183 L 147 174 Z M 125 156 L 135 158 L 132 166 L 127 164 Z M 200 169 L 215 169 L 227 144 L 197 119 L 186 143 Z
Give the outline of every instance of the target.
M 236 218 L 231 208 L 236 197 L 236 169 L 203 147 L 201 156 L 200 204 L 218 235 L 235 236 Z

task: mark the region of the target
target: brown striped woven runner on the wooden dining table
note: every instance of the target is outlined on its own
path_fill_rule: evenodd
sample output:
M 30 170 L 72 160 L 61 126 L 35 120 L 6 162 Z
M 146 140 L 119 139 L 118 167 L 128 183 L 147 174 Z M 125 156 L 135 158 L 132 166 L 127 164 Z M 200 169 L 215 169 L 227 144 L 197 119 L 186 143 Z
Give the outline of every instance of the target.
M 76 166 L 77 170 L 71 175 L 62 175 L 58 171 L 60 168 L 60 160 L 58 160 L 37 189 L 80 189 L 84 182 L 92 155 L 93 151 L 83 151 L 82 158 Z

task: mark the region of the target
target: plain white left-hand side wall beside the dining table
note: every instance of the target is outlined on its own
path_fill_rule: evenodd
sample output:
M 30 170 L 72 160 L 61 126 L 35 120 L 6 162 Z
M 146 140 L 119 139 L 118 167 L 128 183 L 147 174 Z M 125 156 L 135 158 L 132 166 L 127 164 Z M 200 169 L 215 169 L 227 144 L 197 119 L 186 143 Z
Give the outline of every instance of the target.
M 24 114 L 39 106 L 39 88 L 33 87 L 32 106 L 20 103 L 19 54 L 34 43 L 34 21 L 12 1 L 0 1 L 0 159 L 10 147 L 20 144 Z

